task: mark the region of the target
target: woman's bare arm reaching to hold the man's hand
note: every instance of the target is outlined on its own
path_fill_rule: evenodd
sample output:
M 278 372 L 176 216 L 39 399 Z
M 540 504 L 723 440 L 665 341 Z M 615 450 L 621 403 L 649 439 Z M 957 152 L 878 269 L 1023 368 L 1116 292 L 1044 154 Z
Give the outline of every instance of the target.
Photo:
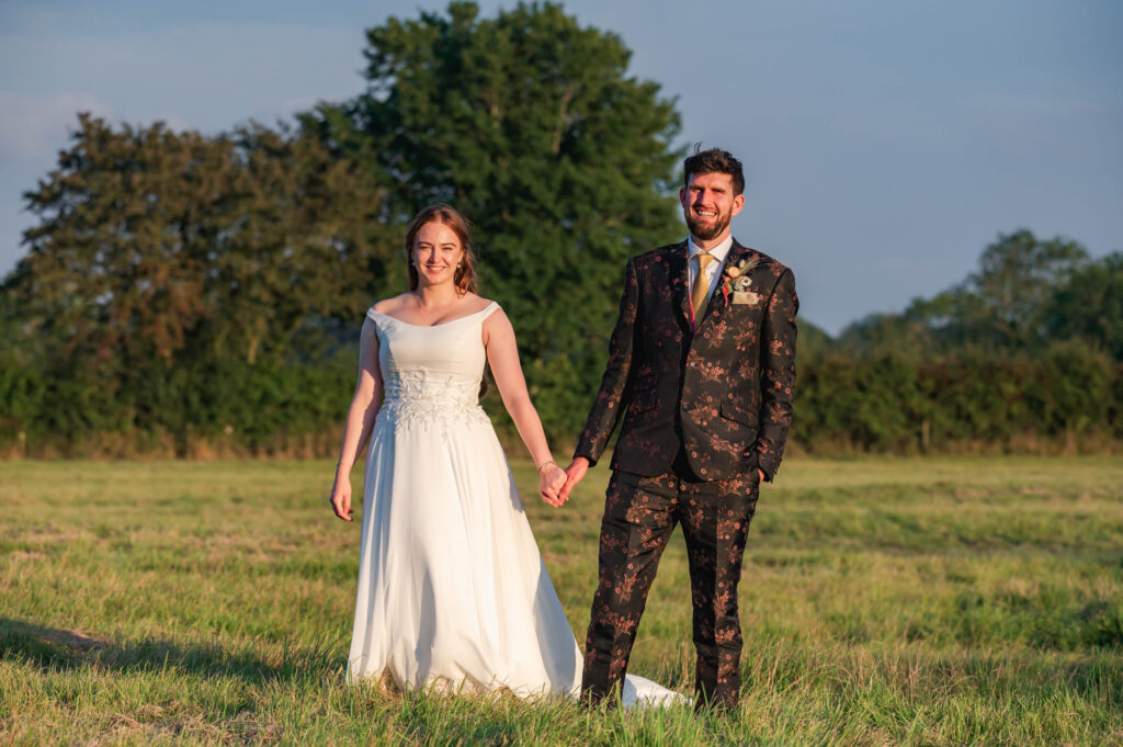
M 565 484 L 565 472 L 550 456 L 542 421 L 530 402 L 527 381 L 522 377 L 514 328 L 502 309 L 494 311 L 484 321 L 484 347 L 487 349 L 487 363 L 495 377 L 495 385 L 503 398 L 503 407 L 511 413 L 514 427 L 519 429 L 519 436 L 538 467 L 538 492 L 550 505 L 562 505 L 565 501 L 558 498 L 558 491 Z

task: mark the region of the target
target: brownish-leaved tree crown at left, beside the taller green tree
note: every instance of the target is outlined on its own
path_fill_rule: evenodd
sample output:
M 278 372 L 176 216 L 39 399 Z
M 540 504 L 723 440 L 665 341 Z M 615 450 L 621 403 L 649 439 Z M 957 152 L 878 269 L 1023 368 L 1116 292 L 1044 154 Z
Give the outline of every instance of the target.
M 310 313 L 360 304 L 380 259 L 378 190 L 283 129 L 204 137 L 82 115 L 25 198 L 39 222 L 6 293 L 28 330 L 94 363 L 200 345 L 284 355 Z

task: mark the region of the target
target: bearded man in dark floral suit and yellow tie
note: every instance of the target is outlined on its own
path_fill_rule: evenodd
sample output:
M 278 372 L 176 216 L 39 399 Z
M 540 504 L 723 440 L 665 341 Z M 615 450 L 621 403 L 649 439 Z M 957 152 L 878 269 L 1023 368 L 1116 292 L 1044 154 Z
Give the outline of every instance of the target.
M 737 158 L 695 148 L 683 172 L 690 238 L 628 262 L 609 363 L 563 489 L 568 497 L 596 464 L 623 416 L 585 643 L 590 703 L 622 686 L 659 556 L 682 523 L 695 704 L 737 707 L 741 556 L 760 482 L 776 475 L 792 422 L 792 271 L 730 234 L 745 206 Z

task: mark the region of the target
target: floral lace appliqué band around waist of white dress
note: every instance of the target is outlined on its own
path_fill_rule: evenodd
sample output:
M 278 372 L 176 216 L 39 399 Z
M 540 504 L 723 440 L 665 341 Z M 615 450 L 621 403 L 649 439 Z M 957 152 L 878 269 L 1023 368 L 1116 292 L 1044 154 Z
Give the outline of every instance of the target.
M 391 374 L 386 397 L 378 409 L 378 420 L 390 418 L 394 429 L 422 427 L 446 429 L 454 422 L 491 425 L 480 407 L 475 388 L 451 375 L 433 375 L 423 368 Z

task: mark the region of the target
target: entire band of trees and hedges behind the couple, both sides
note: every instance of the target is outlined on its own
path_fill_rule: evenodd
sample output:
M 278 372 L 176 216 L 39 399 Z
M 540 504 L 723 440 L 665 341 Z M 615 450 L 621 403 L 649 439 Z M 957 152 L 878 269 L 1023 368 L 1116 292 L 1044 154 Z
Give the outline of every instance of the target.
M 453 3 L 367 40 L 366 90 L 291 125 L 79 118 L 0 288 L 0 454 L 331 454 L 362 315 L 404 290 L 405 221 L 438 200 L 475 221 L 484 291 L 553 440 L 573 440 L 626 258 L 682 233 L 673 102 L 557 6 Z M 838 339 L 801 320 L 794 439 L 1113 448 L 1121 304 L 1120 254 L 999 237 L 904 313 Z

